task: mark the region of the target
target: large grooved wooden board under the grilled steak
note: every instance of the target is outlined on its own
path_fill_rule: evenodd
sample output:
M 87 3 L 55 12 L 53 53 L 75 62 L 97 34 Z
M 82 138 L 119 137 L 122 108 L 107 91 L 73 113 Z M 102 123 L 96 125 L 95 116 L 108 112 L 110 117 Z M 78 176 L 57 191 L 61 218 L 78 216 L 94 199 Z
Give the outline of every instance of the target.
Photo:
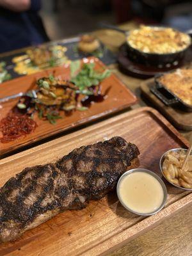
M 140 148 L 140 166 L 159 171 L 159 158 L 170 148 L 187 147 L 188 142 L 155 109 L 140 108 L 91 125 L 0 161 L 0 186 L 26 166 L 56 161 L 82 145 L 122 136 Z M 192 193 L 166 182 L 168 202 L 154 216 L 136 216 L 122 207 L 116 192 L 81 211 L 66 211 L 29 230 L 17 241 L 2 244 L 4 256 L 107 255 L 139 236 L 159 221 L 192 202 Z

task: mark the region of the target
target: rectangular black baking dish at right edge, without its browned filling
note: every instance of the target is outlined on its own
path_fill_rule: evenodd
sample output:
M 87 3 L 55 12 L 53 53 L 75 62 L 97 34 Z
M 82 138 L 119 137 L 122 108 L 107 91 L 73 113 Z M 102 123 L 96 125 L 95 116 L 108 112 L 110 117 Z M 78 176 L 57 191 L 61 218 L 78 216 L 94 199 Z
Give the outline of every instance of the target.
M 192 112 L 192 105 L 186 104 L 158 80 L 161 76 L 163 76 L 163 74 L 155 77 L 155 84 L 150 88 L 150 91 L 166 106 L 173 106 L 186 112 Z

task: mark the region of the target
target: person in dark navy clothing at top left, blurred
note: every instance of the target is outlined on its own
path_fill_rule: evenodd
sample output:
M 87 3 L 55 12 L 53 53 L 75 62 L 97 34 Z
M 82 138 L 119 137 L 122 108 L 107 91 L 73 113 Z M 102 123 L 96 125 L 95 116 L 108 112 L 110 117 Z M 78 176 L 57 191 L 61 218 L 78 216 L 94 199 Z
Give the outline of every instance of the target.
M 40 7 L 40 0 L 0 0 L 0 52 L 49 41 Z

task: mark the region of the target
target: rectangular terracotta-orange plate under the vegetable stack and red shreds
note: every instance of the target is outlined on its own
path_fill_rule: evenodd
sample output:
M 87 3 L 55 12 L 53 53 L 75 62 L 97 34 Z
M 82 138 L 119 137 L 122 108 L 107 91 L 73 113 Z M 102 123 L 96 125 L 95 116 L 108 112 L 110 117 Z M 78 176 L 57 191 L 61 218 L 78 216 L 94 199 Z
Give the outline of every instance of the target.
M 96 70 L 103 70 L 106 68 L 106 66 L 97 58 L 84 58 L 83 62 L 94 62 Z M 33 84 L 36 79 L 49 76 L 49 74 L 52 74 L 52 72 L 54 72 L 54 76 L 61 77 L 62 79 L 69 79 L 70 77 L 69 65 L 52 68 L 44 72 L 20 77 L 1 84 L 0 95 L 3 98 L 19 92 L 28 92 L 29 88 L 31 90 L 31 84 Z M 0 142 L 0 156 L 6 152 L 11 152 L 16 148 L 29 145 L 49 136 L 58 134 L 59 132 L 72 129 L 92 120 L 97 120 L 102 116 L 128 108 L 137 101 L 136 96 L 128 88 L 126 88 L 125 84 L 122 83 L 120 79 L 115 76 L 115 74 L 111 74 L 111 76 L 104 79 L 100 85 L 102 88 L 102 93 L 108 92 L 105 100 L 92 104 L 92 106 L 90 106 L 90 108 L 88 108 L 86 111 L 74 111 L 74 113 L 72 113 L 70 116 L 65 116 L 65 114 L 62 113 L 61 115 L 63 115 L 63 118 L 57 120 L 56 125 L 49 124 L 48 121 L 40 120 L 36 115 L 34 118 L 37 124 L 35 131 L 25 137 L 20 137 L 15 141 L 10 141 L 9 143 Z M 1 104 L 0 119 L 6 116 L 8 111 L 10 111 L 10 109 L 17 104 L 17 100 L 18 99 L 9 100 Z

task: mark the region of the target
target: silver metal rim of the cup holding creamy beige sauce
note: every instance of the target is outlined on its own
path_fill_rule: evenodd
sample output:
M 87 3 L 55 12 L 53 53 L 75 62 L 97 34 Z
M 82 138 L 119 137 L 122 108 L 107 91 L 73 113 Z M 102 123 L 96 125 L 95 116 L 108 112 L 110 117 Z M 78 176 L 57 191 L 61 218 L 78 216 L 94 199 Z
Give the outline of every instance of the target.
M 133 172 L 148 173 L 148 174 L 152 175 L 153 177 L 155 177 L 159 181 L 159 183 L 161 184 L 161 186 L 163 188 L 164 197 L 163 197 L 162 204 L 159 206 L 158 209 L 156 209 L 156 211 L 149 212 L 149 213 L 135 212 L 135 211 L 132 211 L 131 209 L 129 209 L 129 207 L 127 207 L 127 205 L 125 205 L 124 202 L 122 202 L 122 199 L 121 199 L 120 193 L 119 193 L 120 182 L 126 175 L 129 175 L 130 173 L 133 173 Z M 125 209 L 127 209 L 130 212 L 133 212 L 134 214 L 138 214 L 138 215 L 141 215 L 141 216 L 150 216 L 150 215 L 156 214 L 157 212 L 161 211 L 161 209 L 163 209 L 164 205 L 166 204 L 166 200 L 167 200 L 167 190 L 166 190 L 166 186 L 165 186 L 163 180 L 156 173 L 151 172 L 150 170 L 147 170 L 147 169 L 143 169 L 143 168 L 136 168 L 136 169 L 132 169 L 132 170 L 129 170 L 129 171 L 125 172 L 120 177 L 120 179 L 118 180 L 118 183 L 117 183 L 117 186 L 116 186 L 116 193 L 117 193 L 117 196 L 118 196 L 118 200 L 120 200 L 120 203 L 125 207 Z

